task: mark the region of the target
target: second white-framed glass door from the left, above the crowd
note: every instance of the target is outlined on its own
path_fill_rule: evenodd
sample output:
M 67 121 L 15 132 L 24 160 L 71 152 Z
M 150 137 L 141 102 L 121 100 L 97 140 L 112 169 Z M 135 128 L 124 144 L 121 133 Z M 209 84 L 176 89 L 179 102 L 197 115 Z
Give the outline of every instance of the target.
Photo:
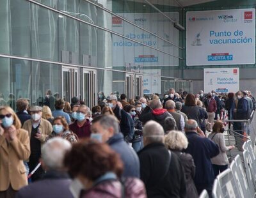
M 97 72 L 83 69 L 83 100 L 92 109 L 97 104 Z

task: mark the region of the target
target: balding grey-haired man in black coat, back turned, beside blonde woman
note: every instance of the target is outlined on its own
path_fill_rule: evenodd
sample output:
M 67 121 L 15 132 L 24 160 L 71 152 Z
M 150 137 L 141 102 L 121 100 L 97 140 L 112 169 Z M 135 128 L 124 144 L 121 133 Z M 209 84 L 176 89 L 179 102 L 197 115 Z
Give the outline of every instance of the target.
M 150 197 L 186 197 L 185 174 L 179 157 L 164 147 L 164 130 L 148 121 L 143 130 L 145 147 L 139 151 L 141 180 Z

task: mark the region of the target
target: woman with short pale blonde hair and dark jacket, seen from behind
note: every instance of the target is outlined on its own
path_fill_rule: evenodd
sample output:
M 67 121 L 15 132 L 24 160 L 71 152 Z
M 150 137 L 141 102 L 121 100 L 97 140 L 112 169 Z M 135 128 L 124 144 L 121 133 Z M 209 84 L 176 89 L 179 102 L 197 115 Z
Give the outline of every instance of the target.
M 186 174 L 187 197 L 198 197 L 193 178 L 195 176 L 195 164 L 193 157 L 188 153 L 182 153 L 183 149 L 188 148 L 188 139 L 182 132 L 171 131 L 165 137 L 164 144 L 166 148 L 179 156 Z

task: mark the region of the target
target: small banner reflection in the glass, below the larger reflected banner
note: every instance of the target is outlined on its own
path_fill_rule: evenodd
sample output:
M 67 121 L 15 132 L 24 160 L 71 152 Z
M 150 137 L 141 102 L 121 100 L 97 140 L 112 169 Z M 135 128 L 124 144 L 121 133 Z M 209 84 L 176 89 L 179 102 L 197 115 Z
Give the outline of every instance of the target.
M 161 70 L 143 70 L 143 73 L 151 75 L 161 75 Z M 161 94 L 161 77 L 143 75 L 143 94 Z

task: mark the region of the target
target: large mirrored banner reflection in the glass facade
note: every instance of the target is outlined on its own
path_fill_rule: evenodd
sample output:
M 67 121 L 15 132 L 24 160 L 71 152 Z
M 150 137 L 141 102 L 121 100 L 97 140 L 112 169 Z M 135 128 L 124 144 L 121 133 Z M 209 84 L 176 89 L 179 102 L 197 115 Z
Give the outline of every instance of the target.
M 179 13 L 165 13 L 173 20 L 179 21 Z M 168 40 L 179 46 L 179 31 L 173 27 L 172 22 L 161 13 L 124 13 L 119 14 L 134 24 L 157 34 L 161 38 Z M 116 33 L 122 34 L 144 43 L 156 49 L 179 57 L 178 47 L 147 33 L 138 27 L 128 24 L 118 17 L 112 17 L 112 29 Z M 169 56 L 163 52 L 145 47 L 140 43 L 132 42 L 120 36 L 112 35 L 113 40 L 113 66 L 135 65 L 137 66 L 177 66 L 179 59 Z

